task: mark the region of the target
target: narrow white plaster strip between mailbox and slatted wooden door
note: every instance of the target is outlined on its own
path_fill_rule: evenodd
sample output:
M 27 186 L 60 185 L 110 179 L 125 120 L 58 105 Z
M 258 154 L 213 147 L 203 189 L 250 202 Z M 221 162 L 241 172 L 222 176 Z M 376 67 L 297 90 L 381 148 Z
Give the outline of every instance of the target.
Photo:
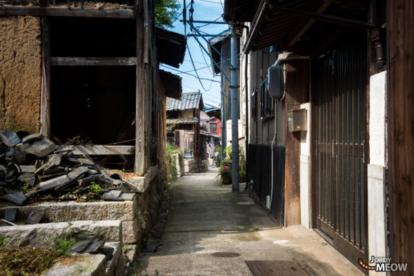
M 311 130 L 311 124 L 309 124 L 310 120 L 310 109 L 309 103 L 302 103 L 300 108 L 305 108 L 307 110 L 307 124 L 308 124 L 308 131 L 302 131 L 300 133 L 300 177 L 299 177 L 299 185 L 300 185 L 300 221 L 303 226 L 306 228 L 310 227 L 310 212 L 309 212 L 309 154 L 310 154 L 310 144 L 309 144 L 309 130 Z

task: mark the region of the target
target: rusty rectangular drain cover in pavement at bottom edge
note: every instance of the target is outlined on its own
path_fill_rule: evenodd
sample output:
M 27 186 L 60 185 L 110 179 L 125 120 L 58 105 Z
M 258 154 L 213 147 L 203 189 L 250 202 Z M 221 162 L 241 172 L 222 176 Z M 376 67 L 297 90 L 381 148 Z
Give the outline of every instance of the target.
M 304 262 L 293 261 L 246 261 L 253 276 L 314 276 L 317 275 Z

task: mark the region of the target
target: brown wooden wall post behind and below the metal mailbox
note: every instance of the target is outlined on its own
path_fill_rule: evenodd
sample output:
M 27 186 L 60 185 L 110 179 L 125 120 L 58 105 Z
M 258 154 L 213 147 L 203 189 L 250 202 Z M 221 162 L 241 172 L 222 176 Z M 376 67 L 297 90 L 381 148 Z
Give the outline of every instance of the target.
M 309 61 L 286 63 L 286 113 L 308 101 Z M 284 226 L 300 224 L 300 132 L 289 132 L 286 121 Z

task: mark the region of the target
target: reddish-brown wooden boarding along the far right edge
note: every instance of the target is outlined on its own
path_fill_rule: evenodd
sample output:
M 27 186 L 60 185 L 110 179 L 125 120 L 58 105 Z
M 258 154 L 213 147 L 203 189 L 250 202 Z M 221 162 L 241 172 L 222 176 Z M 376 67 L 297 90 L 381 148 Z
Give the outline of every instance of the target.
M 388 4 L 393 261 L 409 263 L 409 271 L 395 275 L 414 275 L 414 2 Z

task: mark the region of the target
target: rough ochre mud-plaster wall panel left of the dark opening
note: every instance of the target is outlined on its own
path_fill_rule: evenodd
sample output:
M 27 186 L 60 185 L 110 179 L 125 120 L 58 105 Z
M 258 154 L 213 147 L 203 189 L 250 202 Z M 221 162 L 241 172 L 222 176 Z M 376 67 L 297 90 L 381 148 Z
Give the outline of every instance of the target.
M 38 132 L 40 19 L 0 17 L 0 30 L 0 129 Z

